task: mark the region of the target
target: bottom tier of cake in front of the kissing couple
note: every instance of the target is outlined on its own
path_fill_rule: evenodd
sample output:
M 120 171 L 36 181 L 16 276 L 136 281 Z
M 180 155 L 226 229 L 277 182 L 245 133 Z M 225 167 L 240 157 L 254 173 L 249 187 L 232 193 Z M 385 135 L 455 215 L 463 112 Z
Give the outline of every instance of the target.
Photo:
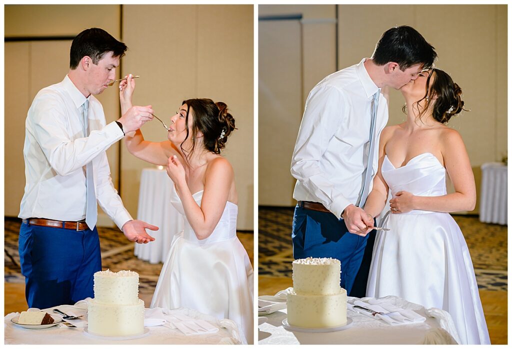
M 331 295 L 301 295 L 292 291 L 286 307 L 291 326 L 317 329 L 347 323 L 347 291 L 342 288 Z

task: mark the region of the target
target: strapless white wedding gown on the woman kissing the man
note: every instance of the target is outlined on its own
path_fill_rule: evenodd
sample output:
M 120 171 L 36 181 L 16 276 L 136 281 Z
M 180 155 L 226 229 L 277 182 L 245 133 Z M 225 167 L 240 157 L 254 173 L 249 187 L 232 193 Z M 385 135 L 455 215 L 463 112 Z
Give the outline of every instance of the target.
M 391 193 L 446 194 L 446 170 L 431 153 L 395 168 L 385 156 L 382 177 Z M 459 226 L 449 213 L 413 210 L 390 214 L 378 231 L 367 296 L 399 296 L 450 313 L 460 344 L 490 344 L 475 271 Z

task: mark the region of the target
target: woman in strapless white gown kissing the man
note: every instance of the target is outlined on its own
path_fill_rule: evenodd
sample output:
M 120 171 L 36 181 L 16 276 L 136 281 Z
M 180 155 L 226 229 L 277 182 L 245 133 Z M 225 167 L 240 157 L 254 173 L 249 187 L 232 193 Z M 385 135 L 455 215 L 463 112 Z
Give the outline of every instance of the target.
M 461 344 L 490 344 L 470 252 L 447 213 L 471 211 L 476 202 L 462 138 L 445 126 L 462 110 L 462 90 L 448 74 L 432 69 L 400 91 L 407 121 L 382 130 L 378 172 L 365 206 L 377 216 L 391 190 L 391 214 L 383 222 L 390 230 L 375 239 L 367 296 L 395 295 L 443 309 Z M 446 172 L 455 187 L 451 194 Z

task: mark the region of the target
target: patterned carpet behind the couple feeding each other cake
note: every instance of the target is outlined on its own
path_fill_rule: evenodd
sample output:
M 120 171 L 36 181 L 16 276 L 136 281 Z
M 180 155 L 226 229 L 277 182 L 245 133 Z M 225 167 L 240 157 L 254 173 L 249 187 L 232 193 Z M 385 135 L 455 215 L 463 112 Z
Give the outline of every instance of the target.
M 21 274 L 18 254 L 18 235 L 20 220 L 6 217 L 4 239 L 4 274 L 5 282 L 25 282 Z M 132 270 L 139 273 L 139 292 L 153 294 L 162 263 L 150 264 L 134 256 L 134 243 L 129 242 L 117 228 L 98 228 L 103 270 Z M 251 264 L 254 256 L 254 234 L 237 232 Z

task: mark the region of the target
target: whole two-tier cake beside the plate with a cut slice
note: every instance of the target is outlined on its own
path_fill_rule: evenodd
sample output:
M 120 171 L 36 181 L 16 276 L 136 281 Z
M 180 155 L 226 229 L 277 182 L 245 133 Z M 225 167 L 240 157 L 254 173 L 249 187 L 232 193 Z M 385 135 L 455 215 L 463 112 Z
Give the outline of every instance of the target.
M 139 299 L 139 274 L 121 270 L 94 273 L 94 299 L 89 302 L 88 332 L 122 337 L 144 333 L 144 301 Z

